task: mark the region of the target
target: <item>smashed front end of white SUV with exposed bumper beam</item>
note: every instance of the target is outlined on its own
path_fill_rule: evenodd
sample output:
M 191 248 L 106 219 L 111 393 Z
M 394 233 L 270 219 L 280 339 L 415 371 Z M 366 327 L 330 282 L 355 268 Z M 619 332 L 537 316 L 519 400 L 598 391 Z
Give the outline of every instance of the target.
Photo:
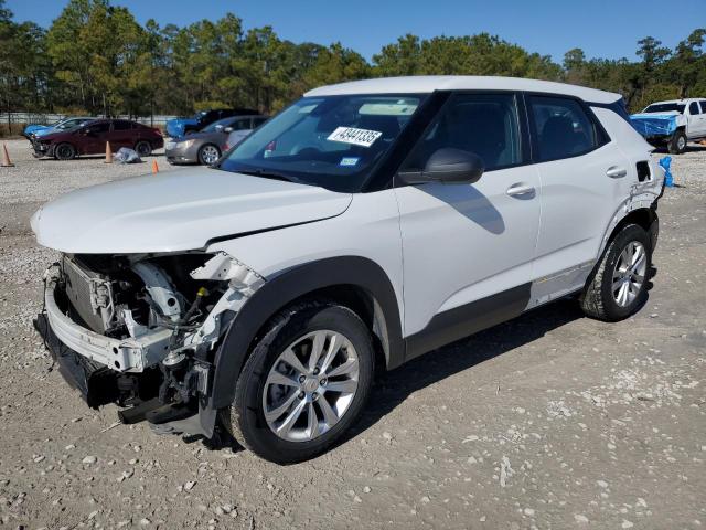
M 89 406 L 211 437 L 197 414 L 217 347 L 264 283 L 223 252 L 64 254 L 45 273 L 35 327 Z

